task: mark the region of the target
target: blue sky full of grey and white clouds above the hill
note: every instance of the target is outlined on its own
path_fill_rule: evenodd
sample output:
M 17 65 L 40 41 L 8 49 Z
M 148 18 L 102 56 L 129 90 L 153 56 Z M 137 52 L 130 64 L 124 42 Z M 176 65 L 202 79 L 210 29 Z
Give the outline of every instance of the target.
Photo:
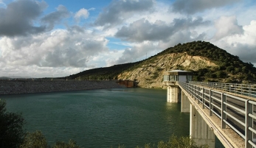
M 66 77 L 194 40 L 256 66 L 256 1 L 0 0 L 0 77 Z

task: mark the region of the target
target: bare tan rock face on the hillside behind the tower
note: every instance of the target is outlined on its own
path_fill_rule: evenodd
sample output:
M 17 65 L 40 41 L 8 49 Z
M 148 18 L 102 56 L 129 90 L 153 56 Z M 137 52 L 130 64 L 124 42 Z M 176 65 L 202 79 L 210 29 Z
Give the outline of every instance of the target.
M 142 88 L 163 88 L 162 73 L 173 69 L 193 69 L 214 67 L 215 63 L 210 62 L 206 57 L 190 56 L 186 52 L 164 54 L 155 57 L 153 63 L 145 63 L 139 68 L 122 72 L 118 79 L 136 80 L 138 86 Z

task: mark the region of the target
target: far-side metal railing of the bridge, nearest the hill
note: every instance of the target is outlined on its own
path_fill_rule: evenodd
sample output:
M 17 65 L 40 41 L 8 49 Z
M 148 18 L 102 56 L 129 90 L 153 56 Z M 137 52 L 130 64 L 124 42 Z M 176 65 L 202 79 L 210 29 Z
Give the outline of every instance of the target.
M 256 98 L 256 85 L 222 83 L 222 82 L 196 82 L 190 81 L 191 84 L 201 85 L 207 88 L 214 88 L 220 91 L 226 91 L 233 94 L 249 96 Z

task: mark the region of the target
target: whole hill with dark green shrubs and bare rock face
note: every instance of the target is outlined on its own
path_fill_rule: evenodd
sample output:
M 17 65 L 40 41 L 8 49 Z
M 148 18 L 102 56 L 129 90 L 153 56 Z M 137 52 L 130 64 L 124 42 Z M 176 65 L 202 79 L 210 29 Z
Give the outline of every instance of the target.
M 143 88 L 162 88 L 164 71 L 193 71 L 193 80 L 209 82 L 256 82 L 256 68 L 238 56 L 204 41 L 177 44 L 136 63 L 94 68 L 70 76 L 81 80 L 136 80 Z

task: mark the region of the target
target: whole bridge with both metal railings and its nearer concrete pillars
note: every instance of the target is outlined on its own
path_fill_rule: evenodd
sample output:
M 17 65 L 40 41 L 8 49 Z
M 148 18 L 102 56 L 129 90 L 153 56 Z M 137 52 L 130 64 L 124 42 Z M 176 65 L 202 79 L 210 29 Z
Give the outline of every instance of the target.
M 211 143 L 216 135 L 224 147 L 256 147 L 256 85 L 177 82 L 176 86 L 181 90 L 181 112 L 190 112 L 190 136 L 198 144 L 215 147 Z

